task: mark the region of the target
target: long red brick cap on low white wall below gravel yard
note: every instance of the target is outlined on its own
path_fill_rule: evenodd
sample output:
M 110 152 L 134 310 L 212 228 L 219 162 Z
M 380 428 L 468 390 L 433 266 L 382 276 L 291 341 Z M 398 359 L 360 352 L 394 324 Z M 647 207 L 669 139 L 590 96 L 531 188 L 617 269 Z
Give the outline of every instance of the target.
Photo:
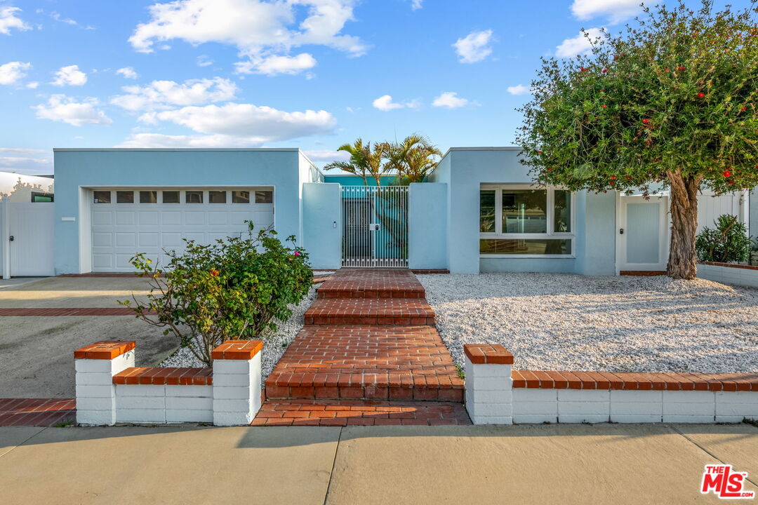
M 758 391 L 758 373 L 626 373 L 512 370 L 513 388 L 625 391 Z

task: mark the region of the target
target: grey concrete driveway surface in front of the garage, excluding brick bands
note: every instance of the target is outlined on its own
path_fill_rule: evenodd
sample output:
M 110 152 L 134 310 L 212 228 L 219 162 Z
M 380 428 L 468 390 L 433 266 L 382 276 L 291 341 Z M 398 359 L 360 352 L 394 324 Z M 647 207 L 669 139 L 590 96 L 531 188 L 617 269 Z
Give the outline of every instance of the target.
M 0 290 L 0 308 L 112 308 L 147 292 L 138 277 L 50 277 Z M 157 365 L 178 345 L 129 315 L 2 316 L 0 397 L 74 397 L 74 350 L 99 340 L 135 340 L 137 366 Z

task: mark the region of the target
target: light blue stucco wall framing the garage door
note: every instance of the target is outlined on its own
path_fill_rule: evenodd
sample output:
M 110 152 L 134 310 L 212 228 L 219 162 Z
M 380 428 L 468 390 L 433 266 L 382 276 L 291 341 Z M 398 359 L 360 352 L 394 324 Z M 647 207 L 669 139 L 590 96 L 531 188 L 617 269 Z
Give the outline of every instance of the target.
M 56 149 L 55 273 L 80 273 L 87 267 L 89 193 L 80 188 L 274 186 L 277 232 L 302 241 L 301 169 L 297 149 Z

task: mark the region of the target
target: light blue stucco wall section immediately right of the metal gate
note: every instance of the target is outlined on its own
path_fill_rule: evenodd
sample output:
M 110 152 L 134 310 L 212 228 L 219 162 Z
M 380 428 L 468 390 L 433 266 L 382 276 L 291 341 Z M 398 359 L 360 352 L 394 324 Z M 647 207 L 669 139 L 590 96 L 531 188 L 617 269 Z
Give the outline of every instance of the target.
M 409 266 L 447 268 L 447 184 L 421 182 L 409 186 Z

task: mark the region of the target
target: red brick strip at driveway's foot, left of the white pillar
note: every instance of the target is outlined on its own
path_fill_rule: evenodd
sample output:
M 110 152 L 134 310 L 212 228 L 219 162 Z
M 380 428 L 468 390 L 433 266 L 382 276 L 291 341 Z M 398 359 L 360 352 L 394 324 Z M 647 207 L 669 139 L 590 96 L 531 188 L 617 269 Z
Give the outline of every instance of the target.
M 77 401 L 60 398 L 0 398 L 0 426 L 55 426 L 76 422 Z

